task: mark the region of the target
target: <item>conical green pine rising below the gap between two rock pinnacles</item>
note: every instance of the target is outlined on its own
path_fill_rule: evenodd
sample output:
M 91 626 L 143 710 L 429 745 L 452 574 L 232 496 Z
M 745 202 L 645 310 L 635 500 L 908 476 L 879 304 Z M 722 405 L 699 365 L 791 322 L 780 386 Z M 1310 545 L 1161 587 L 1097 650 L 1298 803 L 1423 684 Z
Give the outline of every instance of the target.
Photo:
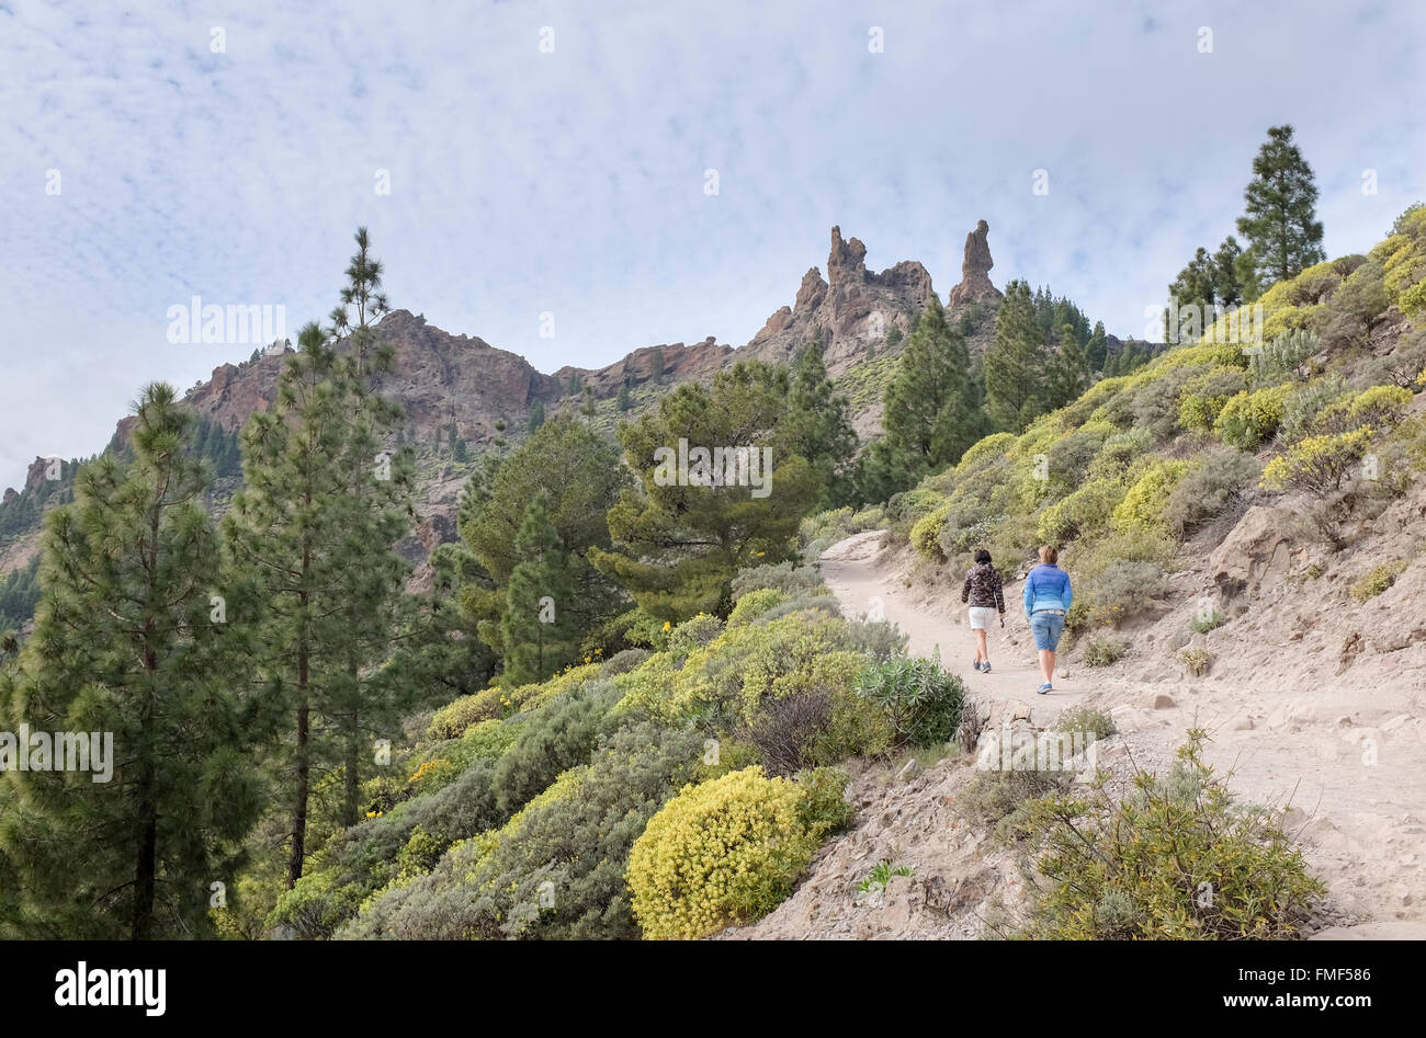
M 945 324 L 945 311 L 934 295 L 887 386 L 881 431 L 873 446 L 873 473 L 884 473 L 890 482 L 880 488 L 868 483 L 876 499 L 914 486 L 927 472 L 955 462 L 981 432 L 965 339 Z

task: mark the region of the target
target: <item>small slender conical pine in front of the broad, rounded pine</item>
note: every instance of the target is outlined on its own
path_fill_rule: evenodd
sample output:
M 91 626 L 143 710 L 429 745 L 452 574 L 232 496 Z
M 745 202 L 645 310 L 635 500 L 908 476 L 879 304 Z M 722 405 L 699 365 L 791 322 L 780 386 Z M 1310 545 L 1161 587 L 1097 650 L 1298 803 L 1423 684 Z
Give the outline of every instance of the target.
M 511 572 L 501 615 L 503 683 L 509 687 L 543 682 L 572 663 L 579 647 L 566 619 L 573 600 L 568 556 L 550 522 L 545 492 L 525 510 L 515 552 L 520 562 Z

